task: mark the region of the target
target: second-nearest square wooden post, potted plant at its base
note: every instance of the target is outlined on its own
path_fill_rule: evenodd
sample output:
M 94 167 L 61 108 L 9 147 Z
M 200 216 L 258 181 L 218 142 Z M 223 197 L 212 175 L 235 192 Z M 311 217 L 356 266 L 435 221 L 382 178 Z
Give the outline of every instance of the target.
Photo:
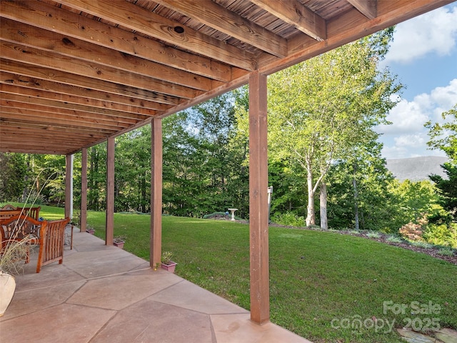
M 162 119 L 151 121 L 151 248 L 149 264 L 155 268 L 162 254 Z

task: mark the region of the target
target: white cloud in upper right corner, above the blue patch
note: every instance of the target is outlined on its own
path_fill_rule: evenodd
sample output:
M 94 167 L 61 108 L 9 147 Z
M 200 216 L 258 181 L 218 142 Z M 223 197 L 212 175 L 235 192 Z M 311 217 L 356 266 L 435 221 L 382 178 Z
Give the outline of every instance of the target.
M 450 54 L 457 41 L 457 6 L 445 6 L 396 26 L 388 62 L 407 64 L 429 53 Z

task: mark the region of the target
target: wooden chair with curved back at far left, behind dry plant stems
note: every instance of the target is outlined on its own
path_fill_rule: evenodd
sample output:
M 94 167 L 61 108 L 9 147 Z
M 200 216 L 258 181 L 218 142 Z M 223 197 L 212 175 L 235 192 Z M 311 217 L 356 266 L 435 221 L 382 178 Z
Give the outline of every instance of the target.
M 39 222 L 24 214 L 15 214 L 12 217 L 2 219 L 0 222 L 1 249 L 11 241 L 20 241 L 29 235 L 35 237 L 31 239 L 31 244 L 39 244 L 39 231 L 46 227 L 46 224 L 47 222 Z M 25 262 L 29 263 L 29 254 L 27 254 Z

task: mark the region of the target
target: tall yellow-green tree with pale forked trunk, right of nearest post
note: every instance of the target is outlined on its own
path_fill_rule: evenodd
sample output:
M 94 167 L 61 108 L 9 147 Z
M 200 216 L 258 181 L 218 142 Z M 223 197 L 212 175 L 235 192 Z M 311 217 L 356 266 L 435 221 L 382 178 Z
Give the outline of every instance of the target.
M 272 160 L 291 160 L 306 172 L 306 224 L 315 224 L 314 194 L 333 161 L 371 141 L 401 89 L 378 71 L 392 30 L 329 51 L 268 79 L 268 140 Z M 367 138 L 368 137 L 368 138 Z M 322 187 L 321 189 L 325 189 Z

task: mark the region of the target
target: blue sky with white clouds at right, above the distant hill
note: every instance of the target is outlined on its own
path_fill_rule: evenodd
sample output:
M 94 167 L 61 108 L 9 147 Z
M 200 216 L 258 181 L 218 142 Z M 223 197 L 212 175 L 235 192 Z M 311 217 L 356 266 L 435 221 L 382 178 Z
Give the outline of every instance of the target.
M 386 159 L 446 156 L 427 149 L 426 121 L 457 103 L 457 4 L 444 6 L 396 26 L 382 67 L 388 66 L 406 86 L 400 102 L 378 126 Z

